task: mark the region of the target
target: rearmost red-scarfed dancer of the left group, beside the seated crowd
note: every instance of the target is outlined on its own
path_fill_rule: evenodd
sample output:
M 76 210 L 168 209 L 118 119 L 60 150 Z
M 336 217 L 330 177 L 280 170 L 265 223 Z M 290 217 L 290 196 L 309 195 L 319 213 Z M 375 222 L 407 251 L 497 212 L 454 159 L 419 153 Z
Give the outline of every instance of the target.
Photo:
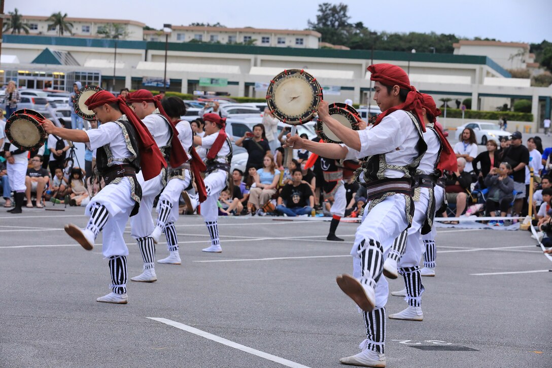
M 205 190 L 207 199 L 201 204 L 201 215 L 211 237 L 211 246 L 202 249 L 204 252 L 221 253 L 219 239 L 219 209 L 216 201 L 220 192 L 229 182 L 230 162 L 232 161 L 232 145 L 226 135 L 224 127 L 226 119 L 217 114 L 203 115 L 205 120 L 205 136 L 194 136 L 194 144 L 208 149 L 205 165 L 207 166 L 205 177 Z

